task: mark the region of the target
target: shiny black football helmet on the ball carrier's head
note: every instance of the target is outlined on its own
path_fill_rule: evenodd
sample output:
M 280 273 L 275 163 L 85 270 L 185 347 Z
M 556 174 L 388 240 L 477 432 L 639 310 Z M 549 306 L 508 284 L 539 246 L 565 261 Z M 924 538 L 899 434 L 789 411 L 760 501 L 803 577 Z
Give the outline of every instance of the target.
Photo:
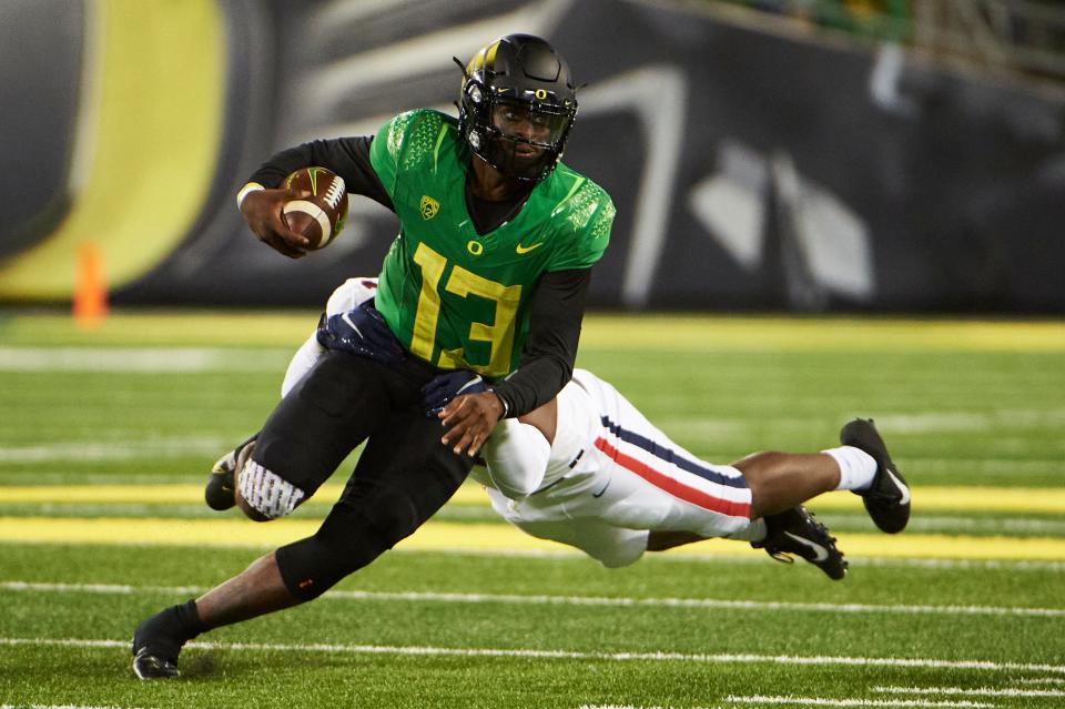
M 520 181 L 547 176 L 577 118 L 566 60 L 539 37 L 507 34 L 474 54 L 463 74 L 458 130 L 474 154 Z

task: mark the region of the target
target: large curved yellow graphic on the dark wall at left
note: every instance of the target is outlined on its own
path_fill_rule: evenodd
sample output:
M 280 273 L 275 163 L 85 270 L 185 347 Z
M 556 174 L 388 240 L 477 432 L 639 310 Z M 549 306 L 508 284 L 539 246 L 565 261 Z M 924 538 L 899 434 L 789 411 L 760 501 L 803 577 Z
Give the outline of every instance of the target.
M 148 274 L 192 227 L 214 178 L 226 73 L 219 4 L 84 7 L 72 205 L 52 234 L 0 262 L 0 298 L 69 298 L 85 242 L 111 287 Z

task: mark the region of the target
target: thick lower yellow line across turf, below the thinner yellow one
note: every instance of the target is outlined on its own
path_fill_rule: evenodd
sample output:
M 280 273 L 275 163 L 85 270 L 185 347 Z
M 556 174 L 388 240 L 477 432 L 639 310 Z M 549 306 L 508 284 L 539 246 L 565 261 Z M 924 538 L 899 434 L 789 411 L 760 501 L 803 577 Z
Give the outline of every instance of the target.
M 276 547 L 306 537 L 318 521 L 241 519 L 0 517 L 0 543 L 135 544 L 146 546 Z M 855 557 L 1065 560 L 1065 539 L 844 534 L 840 548 Z M 525 551 L 570 549 L 530 537 L 505 524 L 428 521 L 399 548 L 427 551 Z M 571 549 L 570 549 L 571 550 Z M 748 556 L 747 544 L 711 539 L 674 553 Z

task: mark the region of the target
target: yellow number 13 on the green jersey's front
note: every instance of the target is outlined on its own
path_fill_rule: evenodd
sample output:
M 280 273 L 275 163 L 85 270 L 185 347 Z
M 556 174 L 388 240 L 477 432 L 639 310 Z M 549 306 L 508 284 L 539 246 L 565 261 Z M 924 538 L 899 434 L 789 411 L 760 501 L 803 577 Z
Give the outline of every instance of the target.
M 414 252 L 414 262 L 422 269 L 422 293 L 418 295 L 418 312 L 414 317 L 414 336 L 410 340 L 410 352 L 427 362 L 433 361 L 433 350 L 436 346 L 436 325 L 440 317 L 440 280 L 447 269 L 447 259 L 427 246 L 425 242 L 418 244 Z M 447 278 L 444 290 L 459 297 L 476 295 L 496 304 L 495 322 L 471 323 L 468 337 L 470 341 L 487 342 L 490 344 L 490 355 L 487 365 L 469 364 L 464 358 L 464 351 L 442 350 L 437 365 L 444 368 L 471 369 L 478 374 L 501 376 L 510 371 L 510 354 L 514 351 L 515 316 L 521 298 L 520 285 L 503 285 L 476 273 L 456 265 Z

